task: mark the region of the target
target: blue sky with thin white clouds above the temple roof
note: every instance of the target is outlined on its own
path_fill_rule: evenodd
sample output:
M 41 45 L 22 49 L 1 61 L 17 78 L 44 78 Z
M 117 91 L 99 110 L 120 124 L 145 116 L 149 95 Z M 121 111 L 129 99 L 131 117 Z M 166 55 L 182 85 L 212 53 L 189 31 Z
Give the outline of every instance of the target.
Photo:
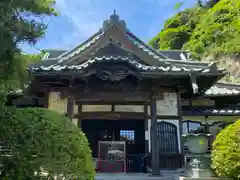
M 176 13 L 174 5 L 179 2 L 184 3 L 184 9 L 192 7 L 196 0 L 56 0 L 60 16 L 46 19 L 46 35 L 34 47 L 21 47 L 28 53 L 73 48 L 96 32 L 114 9 L 128 29 L 148 42 L 161 30 L 164 21 Z

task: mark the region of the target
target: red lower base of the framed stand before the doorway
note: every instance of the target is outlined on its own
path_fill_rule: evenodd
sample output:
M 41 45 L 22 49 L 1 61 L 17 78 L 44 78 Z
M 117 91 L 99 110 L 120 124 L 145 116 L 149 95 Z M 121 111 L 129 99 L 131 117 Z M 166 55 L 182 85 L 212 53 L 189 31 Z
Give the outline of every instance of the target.
M 110 172 L 125 172 L 124 160 L 98 160 L 98 172 L 110 173 Z

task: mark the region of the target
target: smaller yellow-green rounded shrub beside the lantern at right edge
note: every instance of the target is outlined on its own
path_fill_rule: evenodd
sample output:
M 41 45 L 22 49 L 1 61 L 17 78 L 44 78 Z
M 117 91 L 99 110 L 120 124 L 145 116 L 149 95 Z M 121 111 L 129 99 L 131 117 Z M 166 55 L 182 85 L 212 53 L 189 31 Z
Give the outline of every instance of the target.
M 240 179 L 240 120 L 217 135 L 211 158 L 218 176 Z

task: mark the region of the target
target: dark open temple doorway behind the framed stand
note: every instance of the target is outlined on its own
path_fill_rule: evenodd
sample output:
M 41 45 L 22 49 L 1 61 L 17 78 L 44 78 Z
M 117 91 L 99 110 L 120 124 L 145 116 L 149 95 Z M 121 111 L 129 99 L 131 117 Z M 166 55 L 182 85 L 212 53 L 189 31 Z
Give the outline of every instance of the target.
M 126 141 L 126 154 L 145 153 L 144 120 L 82 120 L 93 157 L 98 156 L 98 141 Z

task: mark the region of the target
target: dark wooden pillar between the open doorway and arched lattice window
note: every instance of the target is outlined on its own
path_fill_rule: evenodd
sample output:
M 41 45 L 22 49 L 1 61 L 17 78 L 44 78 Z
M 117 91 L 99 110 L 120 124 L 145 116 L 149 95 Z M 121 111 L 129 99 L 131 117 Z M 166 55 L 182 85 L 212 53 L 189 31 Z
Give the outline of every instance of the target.
M 160 175 L 159 149 L 157 139 L 157 101 L 156 96 L 151 94 L 151 154 L 152 154 L 152 175 Z

